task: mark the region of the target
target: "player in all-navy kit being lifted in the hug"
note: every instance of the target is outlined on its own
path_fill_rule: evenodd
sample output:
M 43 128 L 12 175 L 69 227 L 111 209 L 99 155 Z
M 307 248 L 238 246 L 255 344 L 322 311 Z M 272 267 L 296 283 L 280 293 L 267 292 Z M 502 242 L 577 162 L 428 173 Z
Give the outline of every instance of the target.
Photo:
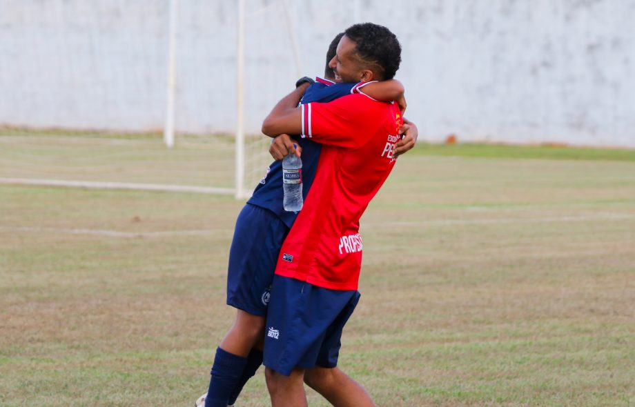
M 328 64 L 335 54 L 335 48 L 342 35 L 343 33 L 339 34 L 333 40 L 327 53 L 325 76 L 331 79 L 335 77 Z M 306 89 L 302 103 L 332 101 L 338 97 L 359 92 L 362 85 L 361 83 L 335 83 L 333 80 L 317 78 L 316 82 Z M 396 81 L 371 83 L 363 87 L 364 92 L 382 100 L 399 99 L 403 92 L 402 86 Z M 401 152 L 412 148 L 417 137 L 416 126 L 412 125 L 404 130 L 407 132 L 400 143 Z M 279 137 L 272 146 L 278 147 L 276 151 L 284 147 L 286 152 L 291 151 L 298 155 L 302 151 L 303 195 L 306 199 L 313 182 L 321 147 L 320 144 L 310 140 L 300 139 L 294 142 L 300 146 L 296 152 L 294 143 L 289 143 L 289 140 L 289 137 Z M 276 157 L 273 152 L 272 155 Z M 266 176 L 255 188 L 253 196 L 244 206 L 236 222 L 228 266 L 227 304 L 237 308 L 237 315 L 234 325 L 217 348 L 208 393 L 197 401 L 197 405 L 202 405 L 202 402 L 205 406 L 224 407 L 233 404 L 246 381 L 254 375 L 262 363 L 264 317 L 275 262 L 282 241 L 297 217 L 297 214 L 283 210 L 282 197 L 282 165 L 280 162 L 275 162 L 271 164 Z M 341 379 L 342 384 L 351 386 L 354 384 L 350 379 L 350 382 L 346 382 L 346 375 L 339 370 L 337 373 L 341 374 L 338 379 Z M 324 376 L 323 379 L 321 380 L 319 373 L 315 374 L 313 385 L 317 387 L 316 390 L 333 387 L 332 384 L 327 383 L 328 380 L 333 379 L 332 375 Z M 340 394 L 346 391 L 347 387 L 341 384 L 338 388 L 332 389 L 332 392 L 340 397 L 346 397 Z

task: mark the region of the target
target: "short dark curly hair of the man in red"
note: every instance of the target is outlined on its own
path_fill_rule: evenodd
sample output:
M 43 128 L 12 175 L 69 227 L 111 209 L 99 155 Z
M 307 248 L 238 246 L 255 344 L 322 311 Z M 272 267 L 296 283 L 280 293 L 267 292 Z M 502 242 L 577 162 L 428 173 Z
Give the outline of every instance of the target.
M 355 43 L 355 54 L 365 63 L 380 68 L 381 79 L 393 79 L 401 63 L 401 45 L 397 36 L 384 26 L 373 23 L 346 28 L 346 37 Z

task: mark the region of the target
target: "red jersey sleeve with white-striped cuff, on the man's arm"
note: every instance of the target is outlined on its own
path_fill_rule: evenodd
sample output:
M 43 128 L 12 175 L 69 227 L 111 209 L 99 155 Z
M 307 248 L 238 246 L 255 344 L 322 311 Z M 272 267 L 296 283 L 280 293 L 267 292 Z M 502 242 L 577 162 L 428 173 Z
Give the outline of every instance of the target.
M 302 105 L 302 134 L 311 140 L 343 148 L 363 146 L 382 126 L 384 103 L 363 94 L 329 103 Z

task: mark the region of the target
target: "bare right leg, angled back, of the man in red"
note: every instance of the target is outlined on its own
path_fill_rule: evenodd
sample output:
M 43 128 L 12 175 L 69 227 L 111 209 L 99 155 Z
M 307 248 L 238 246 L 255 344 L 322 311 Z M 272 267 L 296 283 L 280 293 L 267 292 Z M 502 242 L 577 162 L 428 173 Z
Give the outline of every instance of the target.
M 375 407 L 367 391 L 340 368 L 307 369 L 304 382 L 335 407 Z

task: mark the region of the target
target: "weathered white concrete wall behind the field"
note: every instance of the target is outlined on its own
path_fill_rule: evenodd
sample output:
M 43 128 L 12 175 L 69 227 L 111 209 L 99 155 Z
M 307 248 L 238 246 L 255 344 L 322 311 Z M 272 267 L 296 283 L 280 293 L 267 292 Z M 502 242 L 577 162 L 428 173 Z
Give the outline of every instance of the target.
M 286 0 L 320 75 L 356 2 Z M 235 128 L 235 1 L 180 0 L 176 126 Z M 246 0 L 246 130 L 297 79 L 281 0 Z M 635 2 L 364 0 L 398 35 L 422 138 L 635 147 Z M 0 0 L 0 123 L 158 130 L 168 0 Z M 293 29 L 293 27 L 292 27 Z

